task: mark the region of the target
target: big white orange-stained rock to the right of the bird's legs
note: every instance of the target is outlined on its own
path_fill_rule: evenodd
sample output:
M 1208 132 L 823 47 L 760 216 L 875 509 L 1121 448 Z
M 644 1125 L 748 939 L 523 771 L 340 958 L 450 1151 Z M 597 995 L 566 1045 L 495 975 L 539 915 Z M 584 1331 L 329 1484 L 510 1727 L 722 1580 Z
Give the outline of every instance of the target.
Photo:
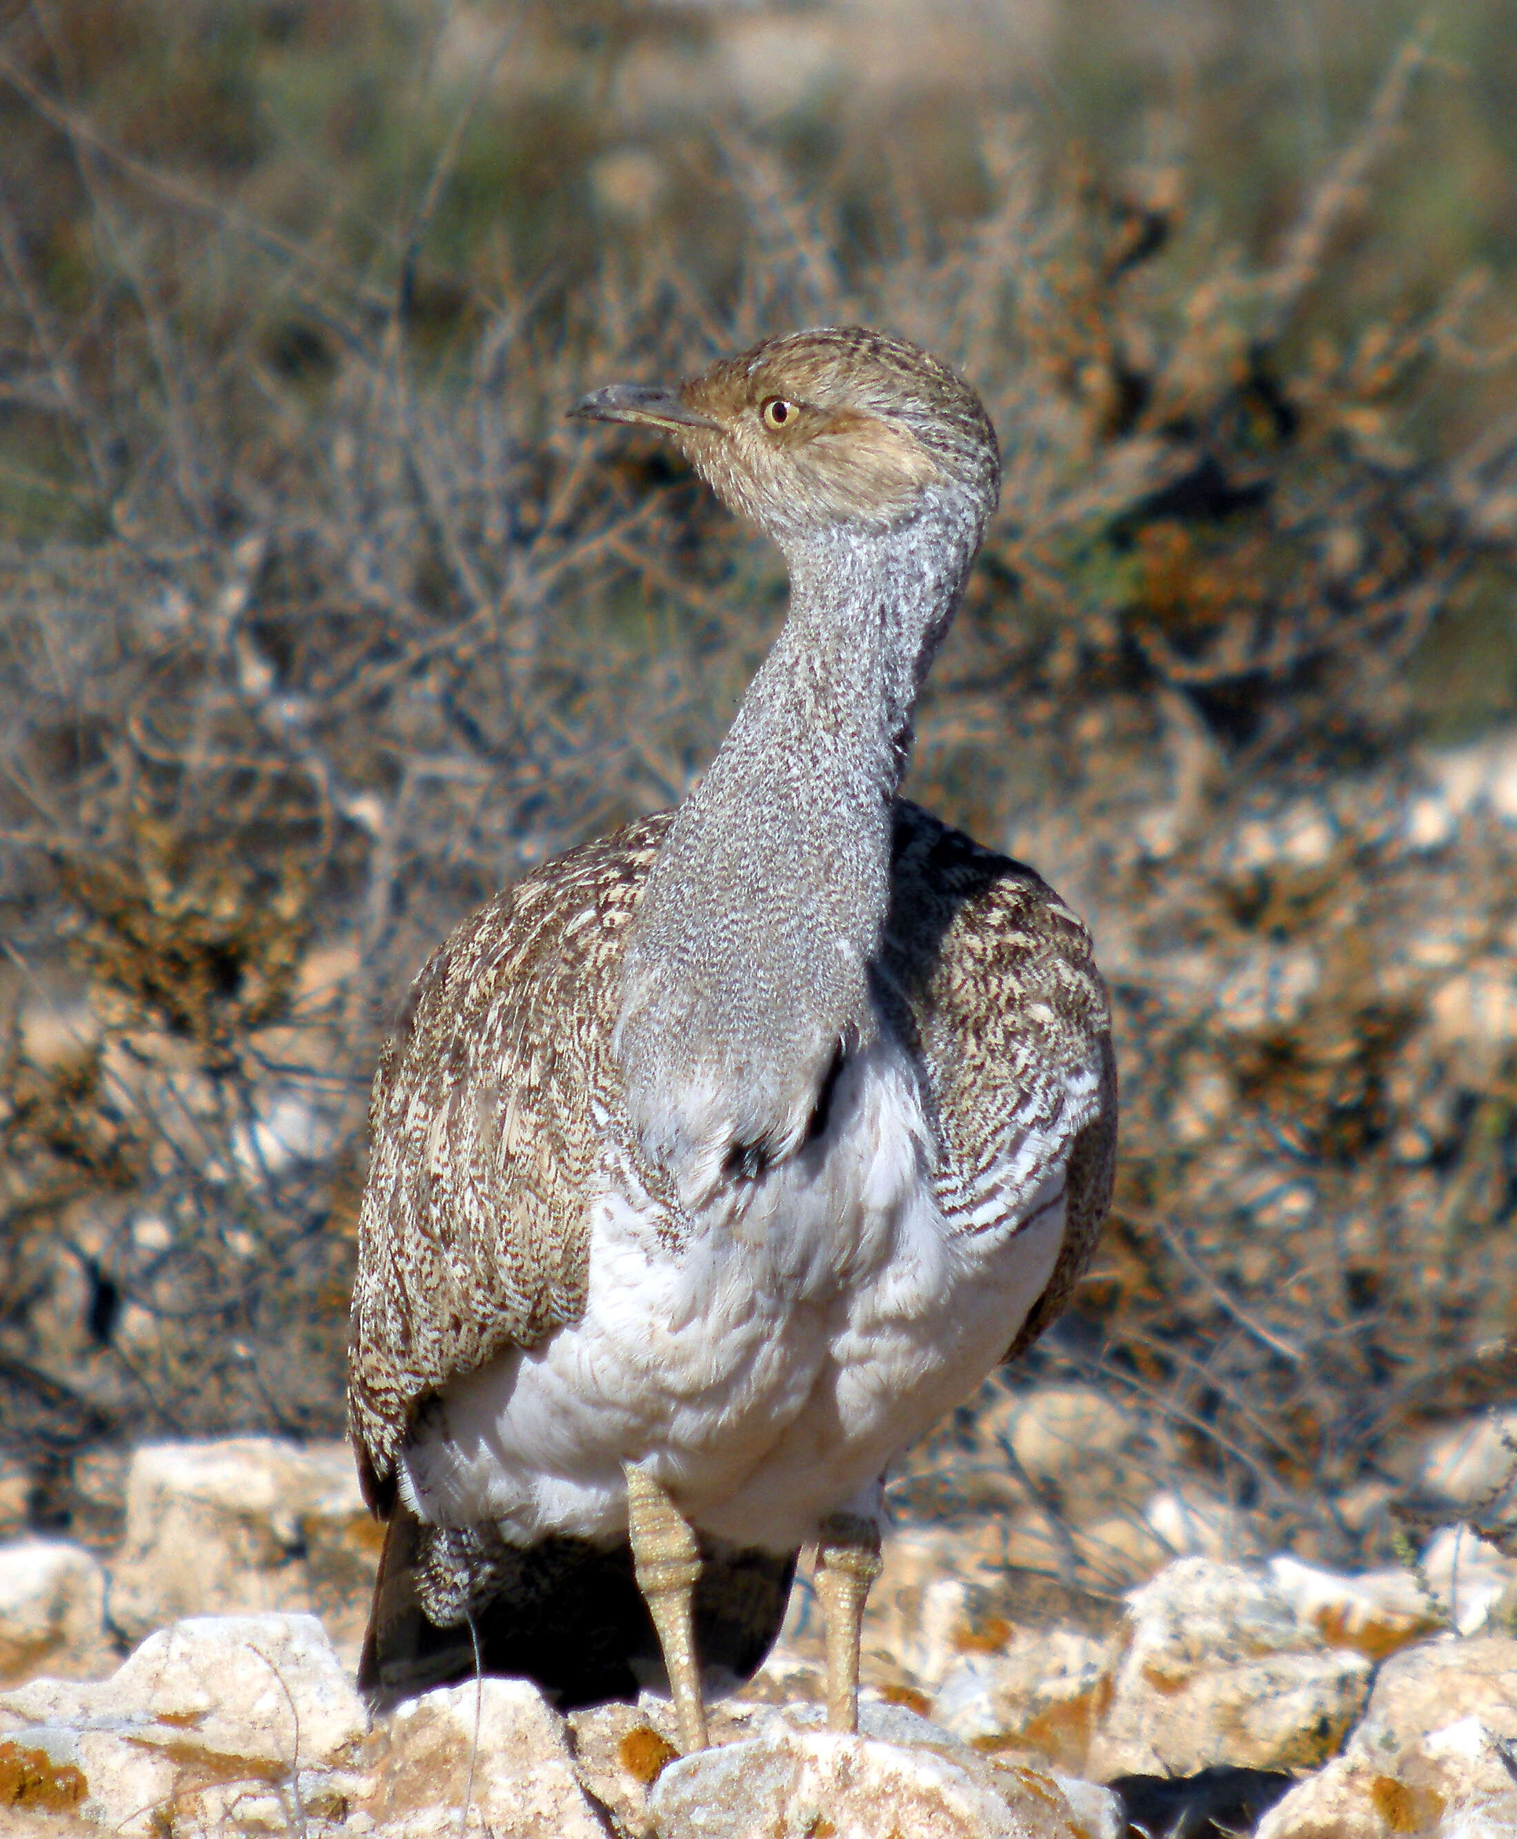
M 1357 1719 L 1370 1675 L 1363 1653 L 1328 1648 L 1269 1578 L 1182 1558 L 1127 1600 L 1090 1773 L 1315 1767 Z

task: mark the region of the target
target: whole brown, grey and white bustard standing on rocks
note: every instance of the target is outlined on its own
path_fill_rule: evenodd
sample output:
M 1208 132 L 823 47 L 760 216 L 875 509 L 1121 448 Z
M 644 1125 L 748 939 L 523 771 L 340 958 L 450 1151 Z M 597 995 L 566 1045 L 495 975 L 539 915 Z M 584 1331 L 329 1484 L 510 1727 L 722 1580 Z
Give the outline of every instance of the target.
M 467 920 L 381 1061 L 360 1685 L 667 1677 L 693 1749 L 702 1672 L 754 1672 L 815 1545 L 853 1730 L 883 1471 L 1057 1315 L 1111 1192 L 1085 927 L 897 796 L 995 430 L 864 329 L 572 414 L 667 434 L 780 544 L 791 607 L 699 787 Z

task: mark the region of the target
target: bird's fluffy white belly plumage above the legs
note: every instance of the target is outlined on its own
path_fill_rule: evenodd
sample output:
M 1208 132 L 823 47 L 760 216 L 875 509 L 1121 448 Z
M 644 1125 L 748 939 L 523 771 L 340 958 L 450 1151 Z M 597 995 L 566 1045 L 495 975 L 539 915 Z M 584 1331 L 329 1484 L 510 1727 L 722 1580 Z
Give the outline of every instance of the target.
M 1063 1157 L 1002 1225 L 949 1230 L 888 1041 L 844 1067 L 824 1137 L 682 1249 L 620 1186 L 583 1317 L 458 1381 L 406 1449 L 423 1519 L 616 1536 L 622 1464 L 645 1462 L 697 1526 L 794 1550 L 1006 1354 L 1065 1230 Z

